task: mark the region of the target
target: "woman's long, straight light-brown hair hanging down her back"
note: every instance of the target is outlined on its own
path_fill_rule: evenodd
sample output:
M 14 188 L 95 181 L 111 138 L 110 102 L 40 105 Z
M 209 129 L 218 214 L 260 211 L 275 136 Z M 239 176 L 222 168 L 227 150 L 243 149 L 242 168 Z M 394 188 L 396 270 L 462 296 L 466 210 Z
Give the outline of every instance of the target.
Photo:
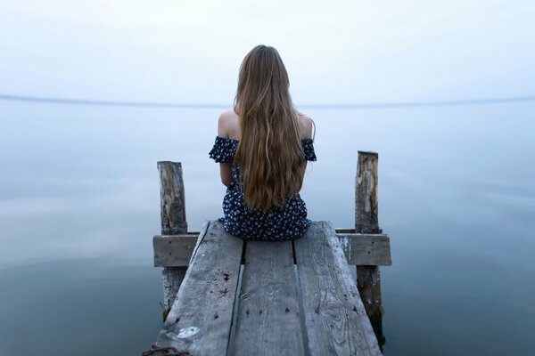
M 302 185 L 304 155 L 297 111 L 284 63 L 273 47 L 258 45 L 243 59 L 235 96 L 242 138 L 235 153 L 247 206 L 284 206 Z

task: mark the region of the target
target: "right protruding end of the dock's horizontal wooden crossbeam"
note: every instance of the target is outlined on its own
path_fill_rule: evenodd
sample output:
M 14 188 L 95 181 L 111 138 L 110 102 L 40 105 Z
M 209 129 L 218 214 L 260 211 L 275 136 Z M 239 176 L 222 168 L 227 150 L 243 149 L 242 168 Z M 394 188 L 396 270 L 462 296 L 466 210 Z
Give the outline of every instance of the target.
M 350 265 L 391 266 L 390 238 L 386 234 L 336 233 Z

